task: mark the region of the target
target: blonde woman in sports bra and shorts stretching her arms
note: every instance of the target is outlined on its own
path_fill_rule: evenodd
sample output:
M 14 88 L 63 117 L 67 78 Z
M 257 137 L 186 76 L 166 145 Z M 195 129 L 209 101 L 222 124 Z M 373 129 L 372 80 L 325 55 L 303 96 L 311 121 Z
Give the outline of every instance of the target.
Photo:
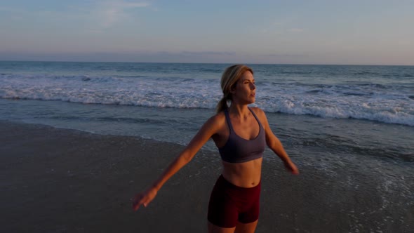
M 233 65 L 222 74 L 223 98 L 217 114 L 201 127 L 187 147 L 145 192 L 133 201 L 136 211 L 147 206 L 156 192 L 199 149 L 213 138 L 222 158 L 222 175 L 211 192 L 208 204 L 208 232 L 254 232 L 258 224 L 262 154 L 265 145 L 283 161 L 286 168 L 298 174 L 281 142 L 272 133 L 265 112 L 248 107 L 255 102 L 253 70 L 245 65 Z M 231 102 L 230 107 L 227 101 Z

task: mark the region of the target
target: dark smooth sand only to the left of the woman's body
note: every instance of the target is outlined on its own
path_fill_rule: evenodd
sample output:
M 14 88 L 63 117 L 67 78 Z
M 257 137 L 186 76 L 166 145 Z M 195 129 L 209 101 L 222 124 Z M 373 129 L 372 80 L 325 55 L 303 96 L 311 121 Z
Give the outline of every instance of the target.
M 217 159 L 197 157 L 169 180 L 152 204 L 133 212 L 134 194 L 157 178 L 182 147 L 9 122 L 2 122 L 0 131 L 4 232 L 206 228 L 209 192 L 220 172 Z

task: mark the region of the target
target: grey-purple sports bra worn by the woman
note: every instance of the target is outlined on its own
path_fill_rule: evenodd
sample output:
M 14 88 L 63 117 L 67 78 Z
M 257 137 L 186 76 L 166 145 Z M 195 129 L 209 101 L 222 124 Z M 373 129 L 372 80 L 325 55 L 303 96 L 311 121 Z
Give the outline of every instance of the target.
M 225 109 L 226 121 L 229 126 L 229 138 L 226 144 L 219 148 L 221 159 L 229 163 L 243 163 L 253 159 L 259 159 L 263 156 L 266 146 L 265 129 L 258 119 L 258 116 L 250 109 L 259 124 L 259 134 L 253 140 L 247 140 L 236 135 L 232 121 L 230 121 L 229 112 Z

